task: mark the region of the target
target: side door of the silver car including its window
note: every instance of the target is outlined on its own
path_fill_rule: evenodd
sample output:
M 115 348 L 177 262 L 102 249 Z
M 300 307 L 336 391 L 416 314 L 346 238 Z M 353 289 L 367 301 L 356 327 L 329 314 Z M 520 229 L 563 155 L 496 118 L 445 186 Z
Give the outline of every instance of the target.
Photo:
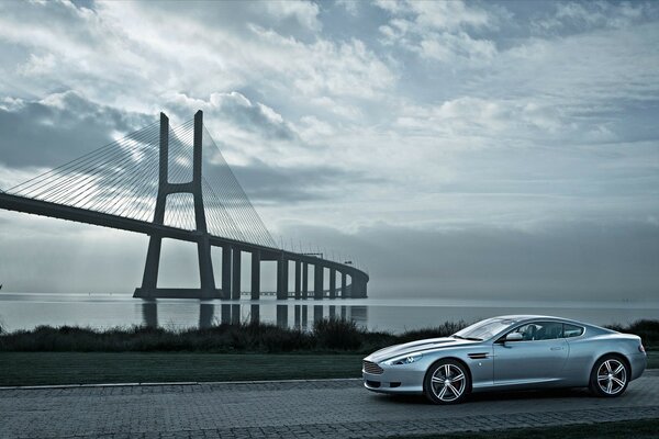
M 532 322 L 512 333 L 521 333 L 522 340 L 504 342 L 505 334 L 494 344 L 494 385 L 560 380 L 569 354 L 569 345 L 562 338 L 562 323 Z

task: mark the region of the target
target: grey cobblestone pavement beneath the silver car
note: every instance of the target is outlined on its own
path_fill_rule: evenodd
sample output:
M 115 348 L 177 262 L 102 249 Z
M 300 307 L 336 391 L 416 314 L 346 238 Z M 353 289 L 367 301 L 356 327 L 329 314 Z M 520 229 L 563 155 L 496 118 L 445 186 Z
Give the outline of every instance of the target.
M 644 418 L 659 418 L 659 371 L 614 399 L 565 390 L 457 406 L 360 380 L 0 390 L 0 438 L 362 438 Z

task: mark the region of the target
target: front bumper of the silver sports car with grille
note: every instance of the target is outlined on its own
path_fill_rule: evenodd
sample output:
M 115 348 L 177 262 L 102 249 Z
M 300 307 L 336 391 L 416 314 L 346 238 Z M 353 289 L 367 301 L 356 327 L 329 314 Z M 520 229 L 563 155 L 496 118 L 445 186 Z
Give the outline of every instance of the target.
M 378 365 L 382 368 L 382 373 L 368 373 L 361 370 L 364 386 L 369 391 L 391 394 L 423 393 L 425 369 L 414 368 L 416 364 Z

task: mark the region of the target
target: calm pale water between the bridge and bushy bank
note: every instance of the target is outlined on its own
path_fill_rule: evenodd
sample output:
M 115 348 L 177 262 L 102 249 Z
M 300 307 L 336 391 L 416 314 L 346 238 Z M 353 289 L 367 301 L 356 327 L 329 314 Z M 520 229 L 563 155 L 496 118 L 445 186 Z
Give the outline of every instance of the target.
M 455 300 L 324 300 L 324 301 L 143 301 L 130 295 L 0 293 L 0 324 L 7 330 L 38 325 L 94 328 L 147 325 L 172 328 L 205 327 L 223 322 L 276 323 L 310 328 L 323 317 L 350 318 L 369 329 L 400 333 L 446 320 L 473 322 L 504 314 L 547 314 L 599 325 L 659 318 L 659 303 L 520 302 Z

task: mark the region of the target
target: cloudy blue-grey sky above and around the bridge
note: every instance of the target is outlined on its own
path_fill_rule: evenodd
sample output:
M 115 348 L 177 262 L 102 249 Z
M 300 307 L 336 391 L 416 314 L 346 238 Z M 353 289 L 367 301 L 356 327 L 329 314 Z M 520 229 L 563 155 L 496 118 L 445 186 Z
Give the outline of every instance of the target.
M 659 301 L 656 2 L 0 2 L 0 188 L 199 109 L 371 296 Z M 129 294 L 146 237 L 0 212 L 0 246 L 12 291 Z

